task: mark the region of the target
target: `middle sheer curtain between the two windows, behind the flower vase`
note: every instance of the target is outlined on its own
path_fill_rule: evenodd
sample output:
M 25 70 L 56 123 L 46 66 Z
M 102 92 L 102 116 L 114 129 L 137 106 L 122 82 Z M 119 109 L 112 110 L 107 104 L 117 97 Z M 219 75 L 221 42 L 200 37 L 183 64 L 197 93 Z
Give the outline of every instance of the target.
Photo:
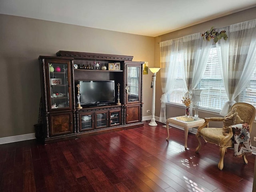
M 189 94 L 196 88 L 204 74 L 212 41 L 212 39 L 210 42 L 203 40 L 201 33 L 183 37 L 183 79 Z M 193 108 L 190 109 L 190 115 L 193 116 Z

